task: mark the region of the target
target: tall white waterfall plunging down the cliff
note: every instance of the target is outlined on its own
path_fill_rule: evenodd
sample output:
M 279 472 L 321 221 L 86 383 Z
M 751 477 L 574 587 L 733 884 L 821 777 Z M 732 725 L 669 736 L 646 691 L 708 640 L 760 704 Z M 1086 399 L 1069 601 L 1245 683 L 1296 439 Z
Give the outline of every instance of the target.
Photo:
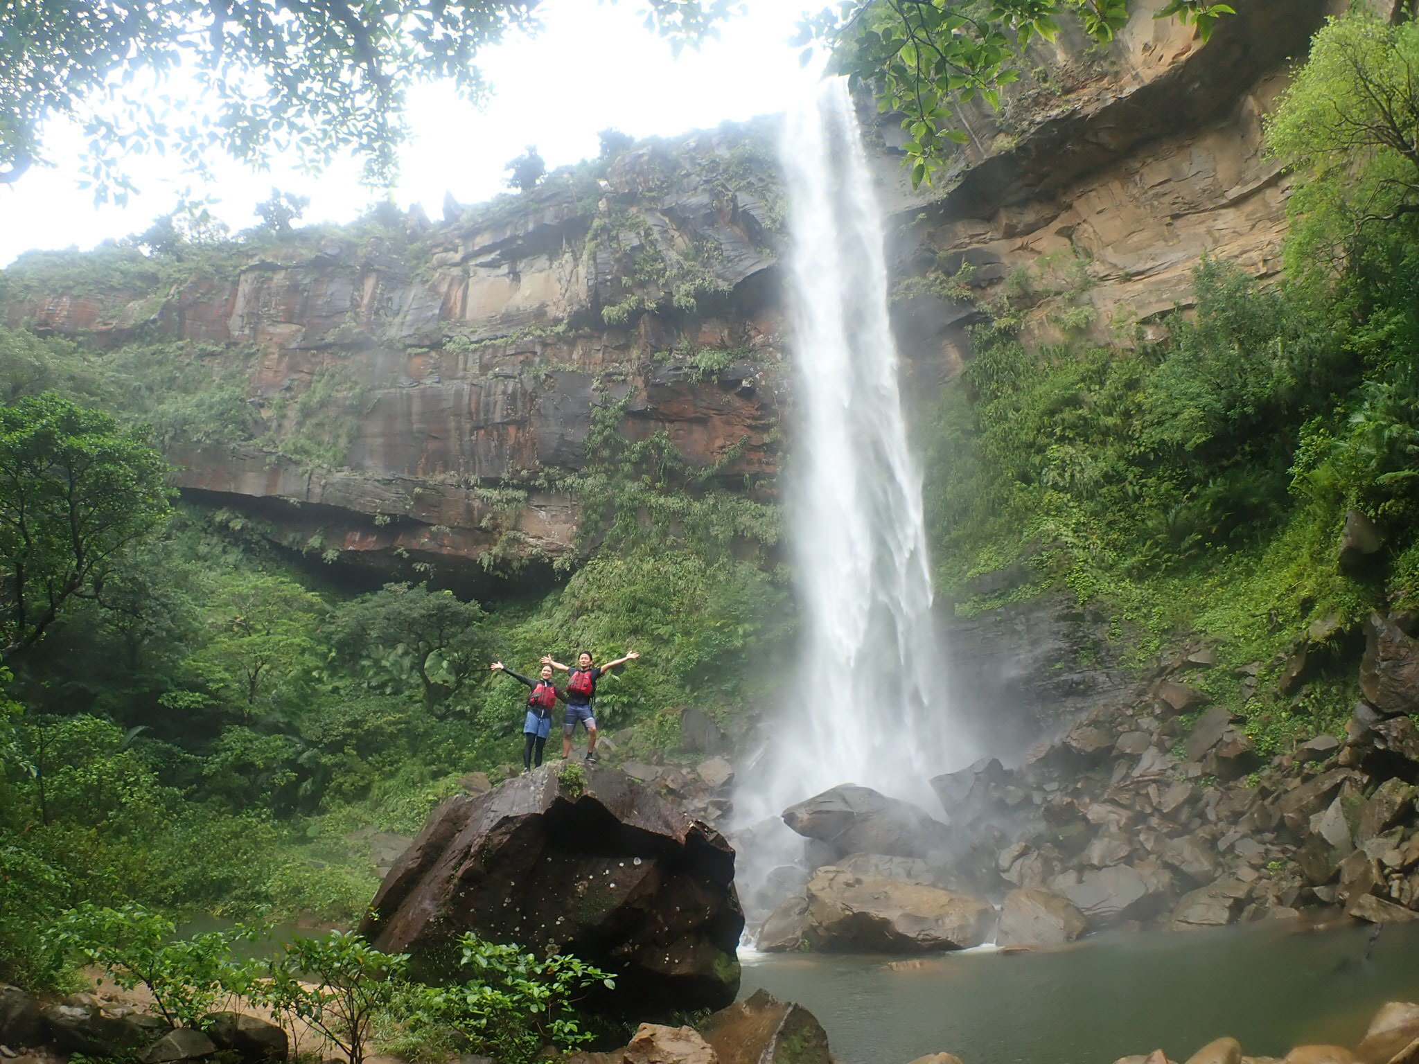
M 785 807 L 857 783 L 939 814 L 929 779 L 972 758 L 939 671 L 881 210 L 846 79 L 790 109 L 780 156 L 796 367 L 789 538 L 803 631 L 795 682 L 768 708 L 772 739 L 739 772 L 736 820 L 755 826 L 739 853 L 749 882 L 802 855 L 803 840 L 772 826 Z

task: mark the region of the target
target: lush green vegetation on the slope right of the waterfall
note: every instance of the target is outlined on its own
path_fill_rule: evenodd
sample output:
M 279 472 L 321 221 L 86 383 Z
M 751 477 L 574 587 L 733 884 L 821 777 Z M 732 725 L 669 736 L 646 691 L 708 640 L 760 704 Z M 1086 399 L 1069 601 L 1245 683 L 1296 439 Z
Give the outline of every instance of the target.
M 1195 312 L 1127 349 L 1027 350 L 1009 302 L 976 331 L 966 387 L 922 433 L 938 580 L 961 611 L 1067 590 L 1132 660 L 1216 641 L 1223 665 L 1259 663 L 1256 694 L 1232 668 L 1196 682 L 1263 750 L 1348 715 L 1344 633 L 1416 590 L 1419 155 L 1365 139 L 1419 75 L 1416 34 L 1332 21 L 1273 116 L 1303 248 L 1279 284 L 1203 262 Z M 1351 509 L 1386 538 L 1372 573 L 1337 567 Z M 1007 567 L 1022 573 L 1009 590 L 972 596 Z M 1307 682 L 1283 695 L 1303 645 Z

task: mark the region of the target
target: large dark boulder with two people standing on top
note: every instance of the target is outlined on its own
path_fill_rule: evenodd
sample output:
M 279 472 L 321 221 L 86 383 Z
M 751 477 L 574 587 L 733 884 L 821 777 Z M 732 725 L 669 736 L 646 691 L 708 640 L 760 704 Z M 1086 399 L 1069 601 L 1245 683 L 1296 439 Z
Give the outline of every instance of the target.
M 739 989 L 734 850 L 613 769 L 545 765 L 436 809 L 360 931 L 426 980 L 464 977 L 468 931 L 609 969 L 597 1007 L 644 1019 L 717 1009 Z

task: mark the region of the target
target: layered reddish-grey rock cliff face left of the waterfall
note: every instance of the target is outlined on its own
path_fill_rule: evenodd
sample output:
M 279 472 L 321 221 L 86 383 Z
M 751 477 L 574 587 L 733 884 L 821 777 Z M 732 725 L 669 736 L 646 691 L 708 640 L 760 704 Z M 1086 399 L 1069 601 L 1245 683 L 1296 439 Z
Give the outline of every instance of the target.
M 772 482 L 773 196 L 762 135 L 700 133 L 437 228 L 298 235 L 156 291 L 30 292 L 4 319 L 104 348 L 186 340 L 234 369 L 254 438 L 175 445 L 177 482 L 288 545 L 387 572 L 552 560 L 576 542 L 565 478 L 599 409 L 691 467 Z M 339 424 L 311 461 L 322 416 Z

